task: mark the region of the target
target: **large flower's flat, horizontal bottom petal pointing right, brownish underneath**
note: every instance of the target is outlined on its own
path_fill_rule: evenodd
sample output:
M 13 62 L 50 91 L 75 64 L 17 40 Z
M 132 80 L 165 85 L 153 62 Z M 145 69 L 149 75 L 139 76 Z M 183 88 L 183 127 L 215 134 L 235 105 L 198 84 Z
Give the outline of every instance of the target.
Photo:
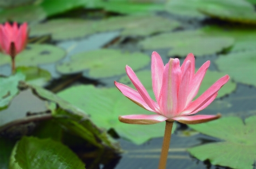
M 171 118 L 173 120 L 176 120 L 180 123 L 184 124 L 199 124 L 199 123 L 205 123 L 209 122 L 215 119 L 219 119 L 221 117 L 221 114 L 217 115 L 194 115 L 194 116 L 178 116 L 175 118 Z

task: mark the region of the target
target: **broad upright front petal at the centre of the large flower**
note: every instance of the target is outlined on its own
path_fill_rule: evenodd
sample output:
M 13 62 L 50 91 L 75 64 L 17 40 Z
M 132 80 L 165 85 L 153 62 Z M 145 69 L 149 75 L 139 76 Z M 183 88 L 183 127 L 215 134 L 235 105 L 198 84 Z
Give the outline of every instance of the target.
M 181 81 L 181 67 L 179 59 L 170 59 L 163 71 L 163 82 L 160 93 L 161 114 L 167 118 L 175 116 L 178 112 L 178 90 Z

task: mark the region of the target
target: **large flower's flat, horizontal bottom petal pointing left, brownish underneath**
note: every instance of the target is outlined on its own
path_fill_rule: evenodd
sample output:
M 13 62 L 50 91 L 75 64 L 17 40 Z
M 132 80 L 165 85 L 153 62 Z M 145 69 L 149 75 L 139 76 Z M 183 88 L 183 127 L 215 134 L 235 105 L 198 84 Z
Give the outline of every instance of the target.
M 160 122 L 164 122 L 168 118 L 162 115 L 154 114 L 154 115 L 125 115 L 119 116 L 119 121 L 123 123 L 129 124 L 156 124 Z

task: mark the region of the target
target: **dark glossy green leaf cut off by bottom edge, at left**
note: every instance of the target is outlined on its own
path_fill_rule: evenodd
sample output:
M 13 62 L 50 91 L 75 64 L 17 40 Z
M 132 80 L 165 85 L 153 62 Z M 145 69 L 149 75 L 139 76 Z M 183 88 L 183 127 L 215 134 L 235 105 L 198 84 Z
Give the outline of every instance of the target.
M 23 137 L 17 144 L 10 161 L 10 169 L 85 168 L 77 155 L 61 142 L 51 139 Z M 12 158 L 13 159 L 13 158 Z M 18 163 L 16 167 L 12 163 Z

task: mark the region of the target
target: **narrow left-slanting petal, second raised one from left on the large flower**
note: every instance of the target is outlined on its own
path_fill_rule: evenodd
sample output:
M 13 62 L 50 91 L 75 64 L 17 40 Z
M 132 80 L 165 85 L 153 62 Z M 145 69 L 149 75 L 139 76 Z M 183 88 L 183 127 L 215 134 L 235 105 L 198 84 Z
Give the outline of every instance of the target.
M 135 72 L 133 72 L 132 68 L 129 66 L 125 67 L 125 70 L 127 72 L 127 75 L 129 79 L 132 81 L 132 84 L 135 86 L 137 91 L 140 93 L 140 96 L 144 99 L 146 104 L 150 107 L 150 109 L 157 111 L 156 110 L 156 103 L 154 103 L 153 99 L 150 98 L 148 92 L 146 92 L 146 89 L 144 86 L 141 84 L 140 80 L 138 77 L 135 75 Z

